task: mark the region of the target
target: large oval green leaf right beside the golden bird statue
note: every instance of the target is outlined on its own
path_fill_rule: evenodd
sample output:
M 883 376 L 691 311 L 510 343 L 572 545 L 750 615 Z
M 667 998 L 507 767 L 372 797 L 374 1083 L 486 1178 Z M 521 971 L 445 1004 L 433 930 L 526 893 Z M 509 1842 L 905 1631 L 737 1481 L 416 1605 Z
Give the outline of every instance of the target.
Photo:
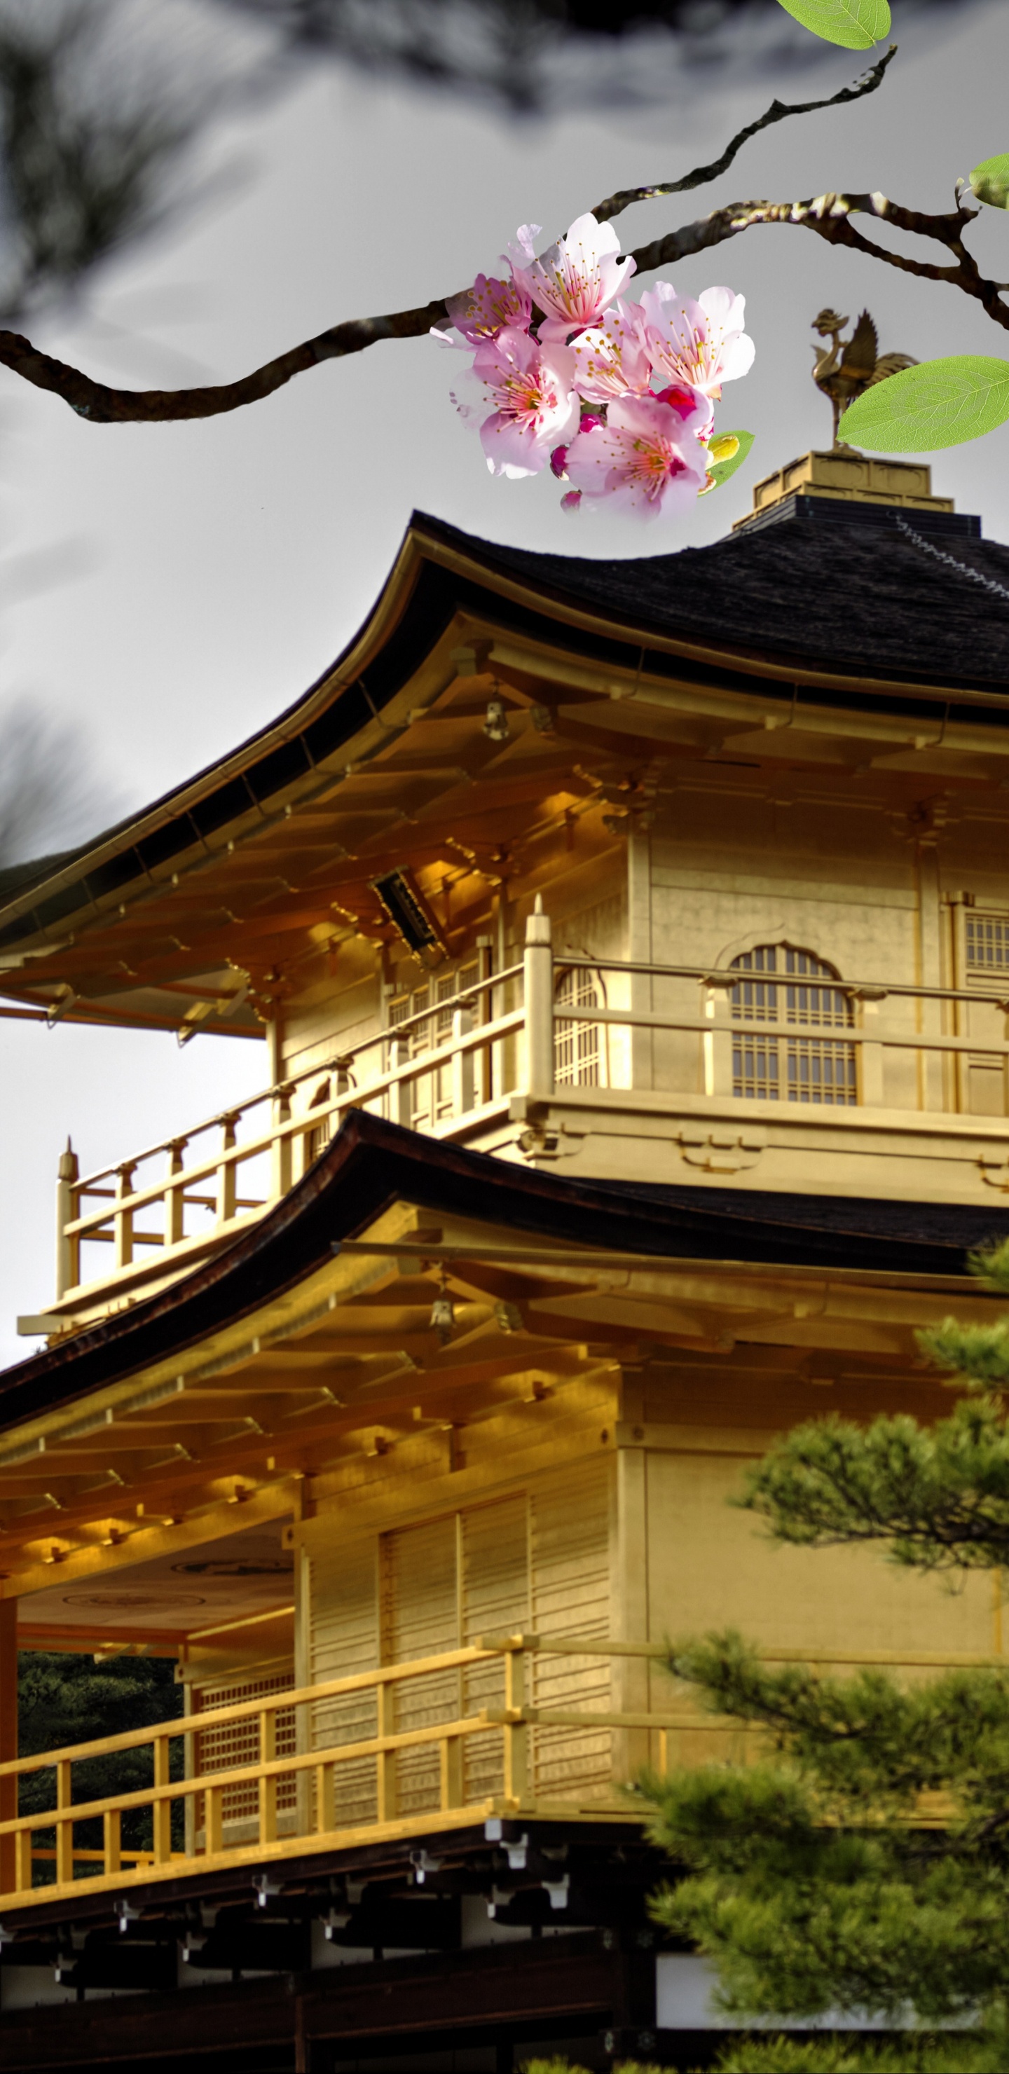
M 841 438 L 880 454 L 930 454 L 980 440 L 1007 417 L 1009 361 L 955 353 L 876 382 L 845 411 Z

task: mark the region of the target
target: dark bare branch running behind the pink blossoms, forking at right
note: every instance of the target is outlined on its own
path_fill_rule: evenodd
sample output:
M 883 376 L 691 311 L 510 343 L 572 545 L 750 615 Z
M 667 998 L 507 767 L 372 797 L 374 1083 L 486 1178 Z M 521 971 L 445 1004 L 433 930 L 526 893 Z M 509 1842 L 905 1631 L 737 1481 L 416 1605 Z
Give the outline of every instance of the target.
M 835 102 L 857 100 L 862 93 L 872 93 L 878 87 L 891 56 L 893 52 L 887 52 L 887 56 L 872 68 L 872 73 L 866 75 L 862 83 L 835 93 L 833 102 L 812 102 L 793 108 L 783 108 L 781 102 L 774 102 L 758 122 L 752 122 L 739 133 L 739 137 L 733 139 L 722 158 L 712 162 L 712 166 L 700 166 L 691 174 L 685 174 L 683 180 L 669 183 L 666 187 L 625 189 L 623 193 L 610 195 L 608 201 L 600 203 L 596 214 L 619 216 L 631 201 L 660 193 L 677 193 L 677 189 L 698 187 L 702 180 L 714 178 L 714 174 L 731 162 L 739 145 L 768 122 L 779 122 L 787 114 L 803 114 L 810 106 L 833 106 Z M 936 241 L 951 253 L 953 263 L 936 265 L 934 261 L 911 259 L 905 253 L 895 253 L 884 245 L 876 245 L 851 222 L 857 214 L 882 218 L 897 230 Z M 965 209 L 961 203 L 951 214 L 926 216 L 920 209 L 905 209 L 901 203 L 889 201 L 887 195 L 880 193 L 828 193 L 816 195 L 810 201 L 731 201 L 720 209 L 712 209 L 710 216 L 702 216 L 698 222 L 685 224 L 681 230 L 671 230 L 666 236 L 654 239 L 652 245 L 639 245 L 633 259 L 639 274 L 650 274 L 654 268 L 679 263 L 693 253 L 710 251 L 714 245 L 725 245 L 729 239 L 739 236 L 743 230 L 752 230 L 756 224 L 791 224 L 812 230 L 828 245 L 847 245 L 853 251 L 866 253 L 870 259 L 880 259 L 882 265 L 899 268 L 903 274 L 916 274 L 922 280 L 949 282 L 949 286 L 961 288 L 963 295 L 974 297 L 992 324 L 1001 324 L 1009 330 L 1009 305 L 1003 301 L 1007 284 L 986 280 L 980 274 L 974 255 L 963 245 L 963 230 L 976 216 L 978 209 Z M 424 303 L 419 309 L 399 309 L 382 317 L 351 317 L 345 324 L 330 326 L 330 330 L 320 332 L 316 338 L 307 338 L 299 346 L 291 346 L 287 353 L 266 361 L 262 367 L 255 367 L 249 375 L 241 375 L 237 382 L 206 388 L 108 388 L 108 384 L 93 382 L 77 367 L 69 367 L 64 361 L 56 361 L 48 353 L 42 353 L 29 338 L 2 330 L 0 363 L 21 375 L 23 382 L 31 382 L 35 388 L 50 390 L 54 396 L 60 396 L 71 404 L 71 411 L 77 411 L 79 417 L 85 417 L 96 425 L 152 425 L 179 419 L 218 417 L 224 411 L 241 411 L 251 402 L 262 402 L 266 396 L 284 388 L 284 384 L 295 375 L 322 365 L 322 361 L 336 361 L 347 359 L 351 353 L 363 353 L 382 338 L 421 338 L 434 324 L 444 324 L 446 301 L 448 297 L 438 297 Z

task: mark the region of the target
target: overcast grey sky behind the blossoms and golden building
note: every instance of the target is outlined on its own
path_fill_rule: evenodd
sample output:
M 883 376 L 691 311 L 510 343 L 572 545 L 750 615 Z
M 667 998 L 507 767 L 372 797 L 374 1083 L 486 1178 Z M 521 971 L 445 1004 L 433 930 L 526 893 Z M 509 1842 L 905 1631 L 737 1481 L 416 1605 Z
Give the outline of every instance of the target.
M 899 33 L 901 0 L 893 12 Z M 951 15 L 947 33 L 909 23 L 880 93 L 781 124 L 714 187 L 629 212 L 625 243 L 739 195 L 882 189 L 949 207 L 955 176 L 1009 147 L 1009 8 L 965 0 Z M 212 131 L 208 166 L 241 170 L 226 199 L 120 257 L 85 309 L 35 336 L 122 386 L 228 380 L 340 317 L 451 292 L 492 265 L 517 224 L 556 234 L 602 193 L 714 156 L 774 91 L 806 100 L 857 71 L 857 56 L 824 46 L 812 73 L 712 83 L 666 112 L 519 124 L 316 62 Z M 986 212 L 974 249 L 1009 276 L 1009 220 Z M 552 479 L 492 481 L 448 402 L 457 363 L 426 340 L 328 363 L 268 402 L 189 425 L 87 425 L 0 371 L 0 703 L 31 697 L 79 722 L 110 819 L 233 749 L 326 668 L 380 591 L 411 508 L 567 554 L 704 545 L 749 508 L 760 475 L 830 442 L 810 382 L 824 303 L 851 315 L 868 305 L 882 351 L 1009 355 L 961 295 L 795 228 L 752 230 L 675 274 L 691 295 L 712 282 L 747 297 L 756 367 L 727 388 L 720 425 L 745 425 L 756 446 L 725 492 L 662 531 L 567 518 Z M 932 481 L 1001 539 L 1007 458 L 1009 427 L 938 454 Z M 60 543 L 66 579 L 31 591 L 27 572 Z M 15 1340 L 15 1313 L 52 1298 L 66 1132 L 83 1170 L 125 1157 L 262 1085 L 266 1054 L 4 1020 L 0 1045 L 0 1361 L 17 1361 L 31 1342 Z

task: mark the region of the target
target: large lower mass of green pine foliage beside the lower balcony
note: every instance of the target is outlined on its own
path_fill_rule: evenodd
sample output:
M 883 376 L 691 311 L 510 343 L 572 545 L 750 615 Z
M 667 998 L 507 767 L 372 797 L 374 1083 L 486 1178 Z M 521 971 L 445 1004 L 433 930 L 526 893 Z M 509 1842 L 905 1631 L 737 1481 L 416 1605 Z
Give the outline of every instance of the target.
M 739 1636 L 673 1651 L 720 1715 L 770 1755 L 642 1782 L 652 1833 L 687 1869 L 652 1898 L 718 1970 L 720 2008 L 830 2008 L 957 2022 L 1009 1987 L 1009 1676 L 766 1670 Z M 779 1755 L 774 1755 L 779 1753 Z M 940 1792 L 943 1829 L 911 1827 Z

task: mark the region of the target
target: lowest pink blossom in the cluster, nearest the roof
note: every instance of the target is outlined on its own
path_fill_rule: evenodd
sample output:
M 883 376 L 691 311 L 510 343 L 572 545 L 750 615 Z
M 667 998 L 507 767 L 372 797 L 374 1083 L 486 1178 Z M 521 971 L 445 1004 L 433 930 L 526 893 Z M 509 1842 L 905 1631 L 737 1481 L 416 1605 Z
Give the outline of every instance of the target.
M 588 498 L 610 498 L 639 518 L 669 518 L 689 508 L 708 475 L 706 450 L 693 423 L 656 396 L 610 402 L 606 425 L 583 433 L 567 452 L 567 475 Z

